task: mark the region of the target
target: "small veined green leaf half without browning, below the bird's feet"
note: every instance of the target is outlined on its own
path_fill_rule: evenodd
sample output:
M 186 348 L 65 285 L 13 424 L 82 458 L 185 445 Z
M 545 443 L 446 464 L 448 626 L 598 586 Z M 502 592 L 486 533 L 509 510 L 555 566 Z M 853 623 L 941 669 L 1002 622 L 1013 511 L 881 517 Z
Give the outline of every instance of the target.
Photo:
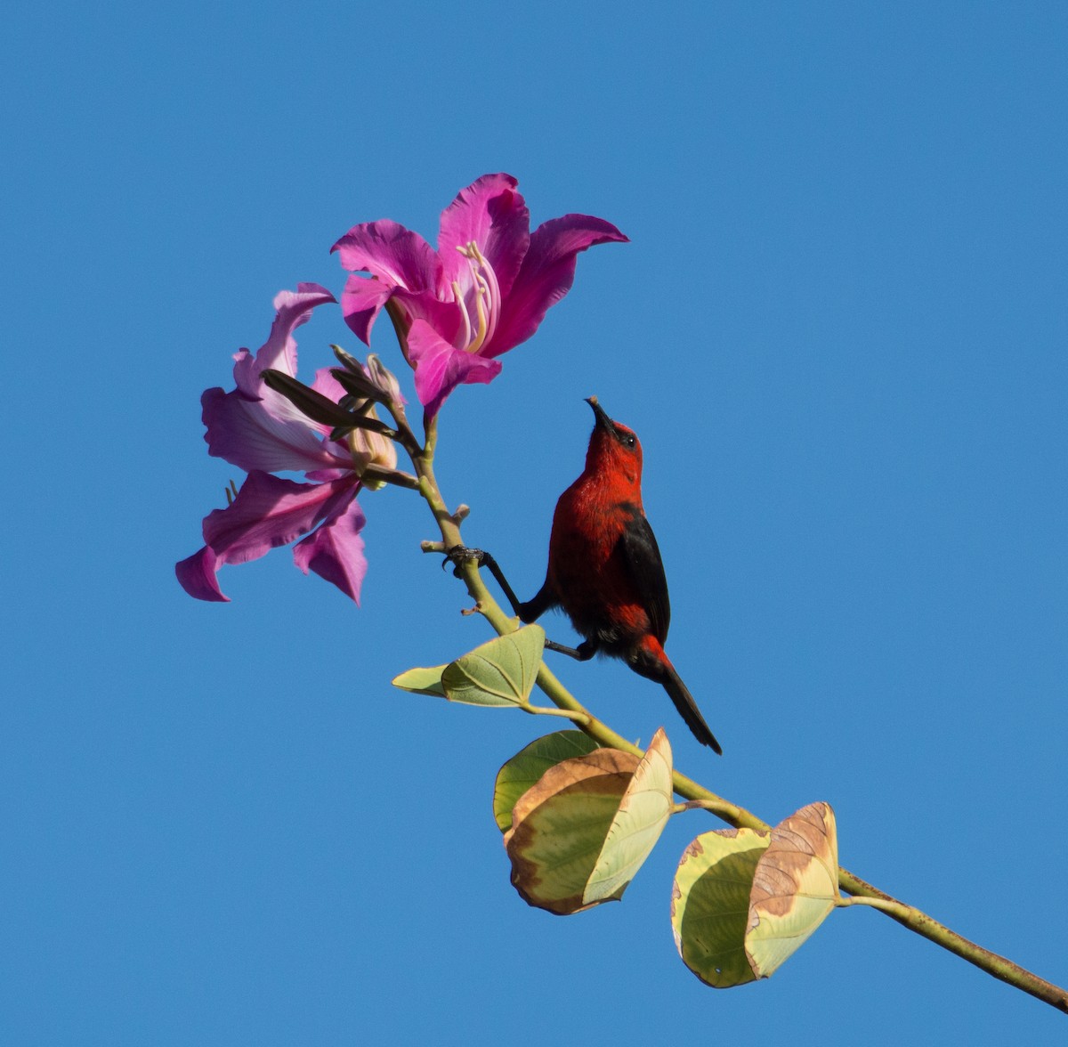
M 524 705 L 544 650 L 545 630 L 539 625 L 490 640 L 445 667 L 441 674 L 445 698 L 466 705 Z

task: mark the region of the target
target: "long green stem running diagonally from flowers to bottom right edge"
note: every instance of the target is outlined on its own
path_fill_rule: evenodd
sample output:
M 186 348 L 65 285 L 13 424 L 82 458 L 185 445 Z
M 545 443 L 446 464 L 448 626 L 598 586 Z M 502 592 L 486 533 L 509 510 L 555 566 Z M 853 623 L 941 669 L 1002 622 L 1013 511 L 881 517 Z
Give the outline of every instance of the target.
M 393 318 L 397 338 L 400 341 L 402 349 L 405 350 L 405 358 L 407 359 L 407 345 L 403 326 L 396 323 L 396 317 Z M 434 475 L 434 452 L 437 447 L 438 437 L 437 418 L 424 419 L 424 422 L 426 426 L 426 441 L 422 453 L 412 455 L 412 465 L 415 468 L 415 475 L 419 479 L 420 494 L 430 506 L 430 511 L 438 521 L 442 541 L 440 545 L 436 542 L 425 542 L 423 543 L 423 549 L 424 551 L 441 552 L 451 549 L 453 546 L 464 544 L 460 538 L 459 527 L 459 520 L 462 516 L 449 512 Z M 457 568 L 457 575 L 464 580 L 468 593 L 474 599 L 475 610 L 489 622 L 498 635 L 503 636 L 507 632 L 514 632 L 519 628 L 519 620 L 505 614 L 486 588 L 478 572 L 478 566 L 473 560 L 465 560 Z M 632 745 L 622 735 L 616 734 L 607 723 L 598 720 L 575 699 L 570 691 L 556 679 L 544 661 L 538 669 L 537 686 L 553 705 L 564 710 L 563 715 L 570 715 L 569 718 L 574 719 L 582 731 L 601 746 L 610 749 L 621 749 L 637 756 L 643 755 L 642 749 Z M 552 710 L 546 712 L 551 713 Z M 771 830 L 771 826 L 767 822 L 758 818 L 743 807 L 732 803 L 722 796 L 717 796 L 716 793 L 712 793 L 710 790 L 705 788 L 678 771 L 674 772 L 674 787 L 679 796 L 689 801 L 687 806 L 702 807 L 736 829 L 757 829 L 764 832 Z M 992 974 L 994 978 L 1001 979 L 1003 982 L 1022 989 L 1024 993 L 1030 993 L 1037 999 L 1068 1014 L 1068 991 L 1065 991 L 1059 986 L 1047 982 L 1045 979 L 1033 974 L 1031 971 L 1025 970 L 1018 964 L 1014 964 L 1004 956 L 999 956 L 996 953 L 977 946 L 974 941 L 969 941 L 914 906 L 899 902 L 897 898 L 841 866 L 838 868 L 838 886 L 843 891 L 853 895 L 846 904 L 862 904 L 877 908 L 902 926 L 922 935 L 929 941 L 933 941 L 943 949 L 947 949 L 962 959 L 967 959 L 970 964 L 974 964 L 988 974 Z

